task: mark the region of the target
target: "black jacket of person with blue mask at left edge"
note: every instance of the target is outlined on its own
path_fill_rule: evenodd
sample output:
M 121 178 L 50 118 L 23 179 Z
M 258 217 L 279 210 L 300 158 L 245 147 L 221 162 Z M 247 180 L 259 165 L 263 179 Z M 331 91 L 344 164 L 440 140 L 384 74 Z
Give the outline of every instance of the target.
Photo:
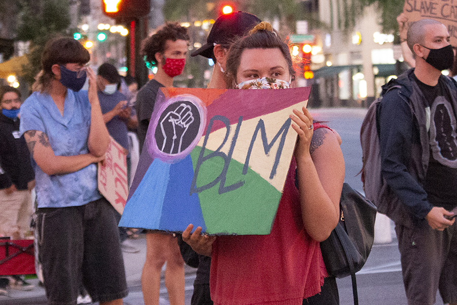
M 0 112 L 0 189 L 14 184 L 16 189 L 26 190 L 33 179 L 30 153 L 24 136 L 19 137 L 19 119 Z

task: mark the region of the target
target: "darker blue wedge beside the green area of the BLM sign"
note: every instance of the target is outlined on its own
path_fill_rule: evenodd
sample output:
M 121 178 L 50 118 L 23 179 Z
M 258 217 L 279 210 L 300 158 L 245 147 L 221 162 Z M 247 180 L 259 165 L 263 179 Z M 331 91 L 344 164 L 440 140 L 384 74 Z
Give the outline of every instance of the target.
M 160 230 L 182 232 L 189 224 L 193 224 L 194 229 L 200 226 L 203 232 L 206 231 L 199 197 L 195 193 L 189 194 L 192 178 L 193 165 L 190 155 L 171 164 L 160 217 Z

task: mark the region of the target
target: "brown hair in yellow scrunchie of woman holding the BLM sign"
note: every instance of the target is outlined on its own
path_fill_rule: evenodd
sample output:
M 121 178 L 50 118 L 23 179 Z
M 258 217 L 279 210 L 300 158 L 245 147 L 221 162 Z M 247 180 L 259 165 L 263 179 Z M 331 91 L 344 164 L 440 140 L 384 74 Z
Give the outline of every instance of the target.
M 289 74 L 292 80 L 295 79 L 292 58 L 289 46 L 279 37 L 278 33 L 268 22 L 257 24 L 249 35 L 236 41 L 228 50 L 227 61 L 225 63 L 225 81 L 227 88 L 232 88 L 234 80 L 237 79 L 237 71 L 240 67 L 241 54 L 245 49 L 275 49 L 278 48 L 287 62 Z

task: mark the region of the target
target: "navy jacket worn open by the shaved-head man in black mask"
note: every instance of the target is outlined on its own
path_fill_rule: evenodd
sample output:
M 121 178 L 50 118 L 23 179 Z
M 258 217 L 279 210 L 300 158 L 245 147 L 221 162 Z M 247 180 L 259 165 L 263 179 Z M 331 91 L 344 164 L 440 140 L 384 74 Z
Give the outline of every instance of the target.
M 382 87 L 379 111 L 382 177 L 400 199 L 395 204 L 403 205 L 387 216 L 405 226 L 423 222 L 433 207 L 423 189 L 430 158 L 430 113 L 413 73 L 410 69 Z M 450 102 L 457 109 L 457 83 L 444 75 L 438 82 L 447 88 Z

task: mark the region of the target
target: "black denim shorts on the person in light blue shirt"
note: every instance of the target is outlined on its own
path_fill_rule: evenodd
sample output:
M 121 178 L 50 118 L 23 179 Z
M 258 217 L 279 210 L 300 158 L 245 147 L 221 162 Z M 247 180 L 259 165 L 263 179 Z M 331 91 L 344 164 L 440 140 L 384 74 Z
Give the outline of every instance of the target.
M 82 206 L 39 208 L 36 229 L 49 304 L 76 305 L 80 284 L 93 302 L 127 295 L 119 230 L 105 198 Z

